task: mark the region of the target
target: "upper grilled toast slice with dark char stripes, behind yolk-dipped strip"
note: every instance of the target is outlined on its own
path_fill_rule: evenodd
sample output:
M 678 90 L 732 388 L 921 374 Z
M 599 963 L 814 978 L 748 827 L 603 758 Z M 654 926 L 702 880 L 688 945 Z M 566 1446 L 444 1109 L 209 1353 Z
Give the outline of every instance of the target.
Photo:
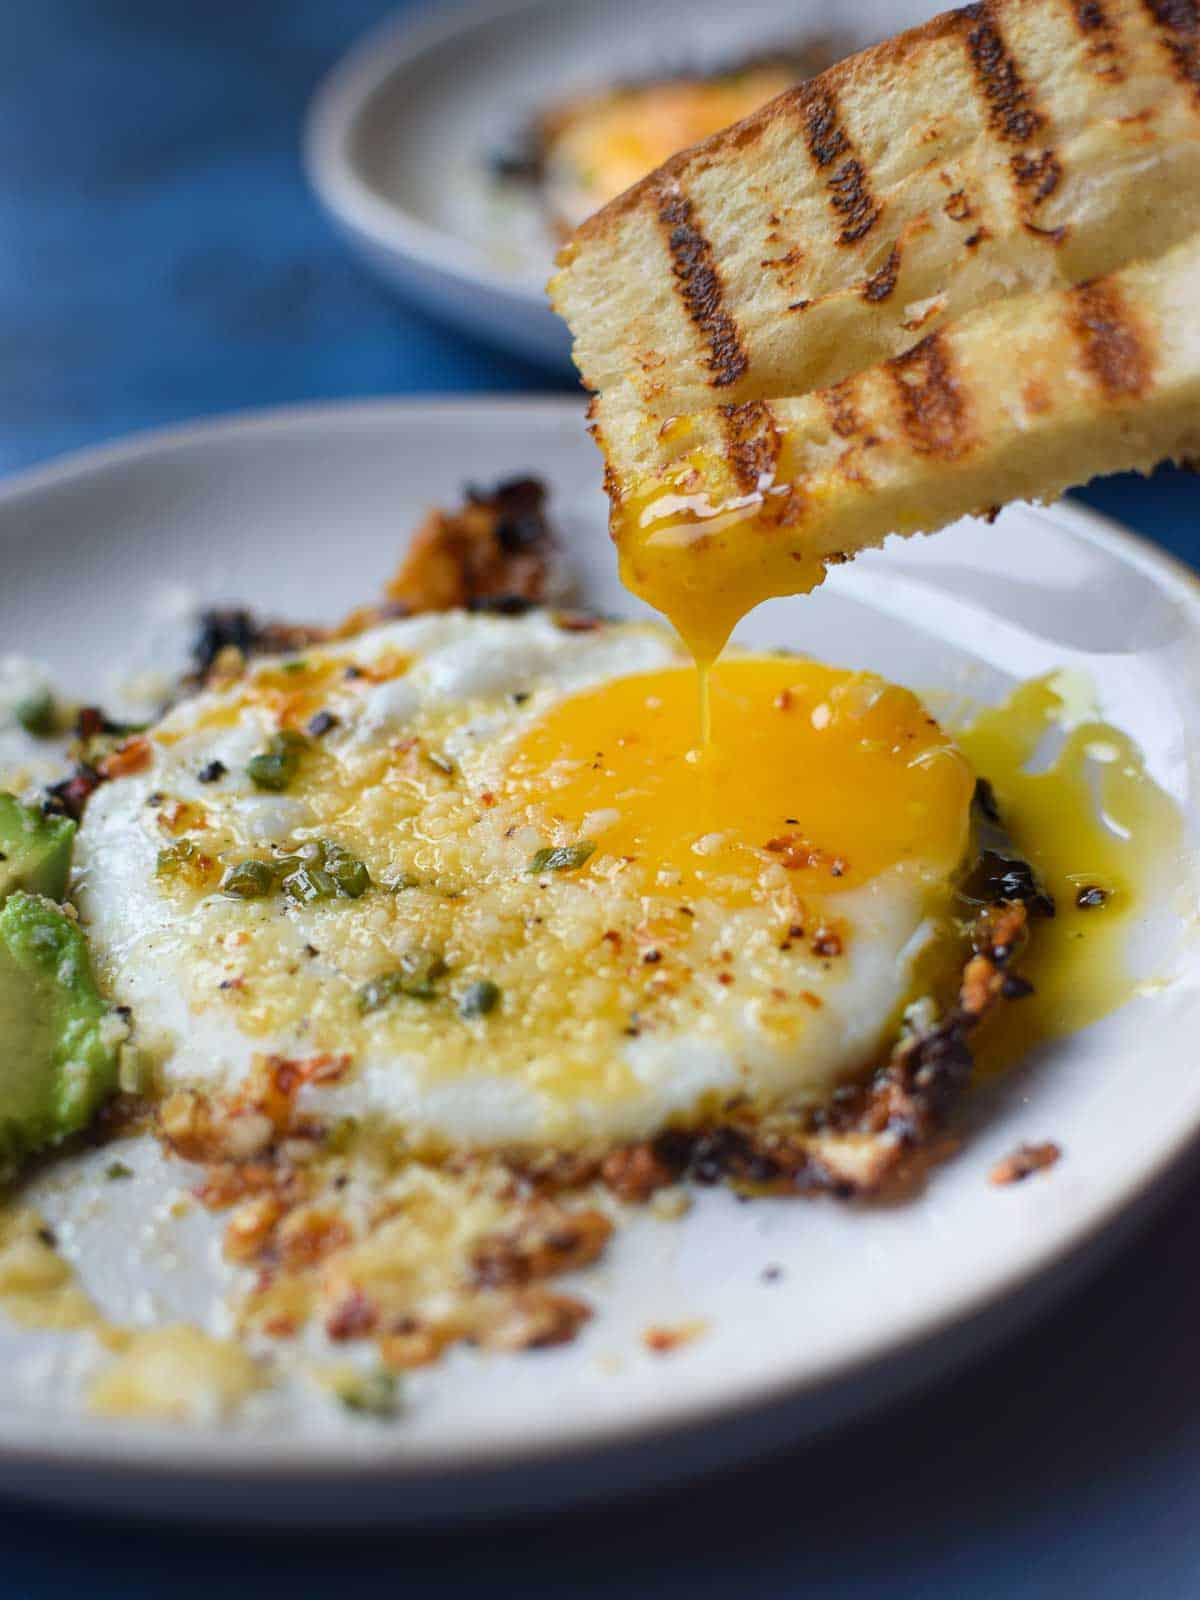
M 779 96 L 589 219 L 550 285 L 622 414 L 802 395 L 1200 227 L 1195 0 L 984 0 Z

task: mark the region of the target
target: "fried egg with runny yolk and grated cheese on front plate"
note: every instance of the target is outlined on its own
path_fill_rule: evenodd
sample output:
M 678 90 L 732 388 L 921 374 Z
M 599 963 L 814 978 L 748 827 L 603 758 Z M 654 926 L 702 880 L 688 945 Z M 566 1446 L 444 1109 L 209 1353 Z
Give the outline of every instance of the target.
M 666 630 L 546 613 L 254 664 L 90 803 L 104 981 L 168 1085 L 328 1058 L 416 1149 L 819 1104 L 962 958 L 973 773 L 862 672 L 730 654 L 712 712 Z

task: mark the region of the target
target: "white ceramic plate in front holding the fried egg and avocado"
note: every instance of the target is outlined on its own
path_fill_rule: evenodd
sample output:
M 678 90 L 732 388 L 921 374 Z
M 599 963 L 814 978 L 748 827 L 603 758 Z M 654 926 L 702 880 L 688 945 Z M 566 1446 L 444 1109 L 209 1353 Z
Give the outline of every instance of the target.
M 0 640 L 94 696 L 162 616 L 165 587 L 333 618 L 378 587 L 430 501 L 526 469 L 554 488 L 582 597 L 632 610 L 574 403 L 414 402 L 234 419 L 11 480 Z M 1083 667 L 1195 818 L 1195 581 L 1088 512 L 1013 509 L 896 544 L 808 600 L 765 606 L 744 637 L 984 699 Z M 78 1339 L 0 1326 L 0 1490 L 176 1517 L 398 1523 L 611 1494 L 861 1414 L 1061 1290 L 1192 1141 L 1195 893 L 1182 877 L 1178 890 L 1142 931 L 1152 970 L 1181 976 L 978 1096 L 963 1154 L 912 1203 L 704 1192 L 683 1221 L 646 1218 L 616 1240 L 587 1278 L 598 1314 L 578 1344 L 459 1350 L 411 1378 L 390 1426 L 288 1394 L 206 1434 L 88 1419 L 70 1403 Z M 989 1186 L 1016 1142 L 1046 1138 L 1066 1150 L 1053 1171 Z M 123 1152 L 133 1181 L 101 1182 L 106 1158 L 94 1181 L 40 1186 L 85 1282 L 123 1317 L 203 1314 L 211 1219 L 155 1221 L 178 1176 L 149 1142 Z M 778 1282 L 763 1282 L 768 1264 Z M 690 1318 L 709 1333 L 667 1358 L 643 1349 L 648 1323 Z

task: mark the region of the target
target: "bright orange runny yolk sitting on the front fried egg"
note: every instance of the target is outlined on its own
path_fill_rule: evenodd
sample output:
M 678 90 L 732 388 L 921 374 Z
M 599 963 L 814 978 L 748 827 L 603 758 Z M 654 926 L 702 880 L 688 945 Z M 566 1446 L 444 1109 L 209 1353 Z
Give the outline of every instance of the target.
M 773 867 L 797 894 L 829 894 L 898 866 L 944 885 L 960 866 L 974 778 L 907 690 L 734 656 L 712 674 L 712 714 L 699 752 L 690 667 L 574 694 L 518 746 L 514 798 L 595 846 L 584 872 L 632 872 L 642 891 L 744 904 L 778 886 Z

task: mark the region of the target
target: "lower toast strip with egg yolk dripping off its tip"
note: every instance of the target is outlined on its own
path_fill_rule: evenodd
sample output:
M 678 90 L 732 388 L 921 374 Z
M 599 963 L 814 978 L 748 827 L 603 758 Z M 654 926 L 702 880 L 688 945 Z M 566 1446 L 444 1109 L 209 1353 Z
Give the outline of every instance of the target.
M 830 389 L 635 424 L 661 461 L 645 474 L 610 438 L 626 584 L 712 658 L 750 606 L 890 533 L 1200 454 L 1197 304 L 1200 234 L 968 312 Z

